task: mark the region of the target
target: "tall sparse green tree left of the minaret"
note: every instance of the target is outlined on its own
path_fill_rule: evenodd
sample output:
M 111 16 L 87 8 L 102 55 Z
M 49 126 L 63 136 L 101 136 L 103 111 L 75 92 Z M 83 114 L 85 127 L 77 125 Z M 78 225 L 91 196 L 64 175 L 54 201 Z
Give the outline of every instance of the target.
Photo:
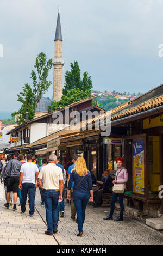
M 18 94 L 17 101 L 21 103 L 20 109 L 12 113 L 12 117 L 17 115 L 17 123 L 24 123 L 26 120 L 26 109 L 28 109 L 28 119 L 33 119 L 35 116 L 37 104 L 39 103 L 41 97 L 48 90 L 49 86 L 52 84 L 51 81 L 47 81 L 48 71 L 52 68 L 52 59 L 46 60 L 45 53 L 39 53 L 36 57 L 34 68 L 36 72 L 32 70 L 30 73 L 33 86 L 28 83 L 22 88 L 23 91 Z

